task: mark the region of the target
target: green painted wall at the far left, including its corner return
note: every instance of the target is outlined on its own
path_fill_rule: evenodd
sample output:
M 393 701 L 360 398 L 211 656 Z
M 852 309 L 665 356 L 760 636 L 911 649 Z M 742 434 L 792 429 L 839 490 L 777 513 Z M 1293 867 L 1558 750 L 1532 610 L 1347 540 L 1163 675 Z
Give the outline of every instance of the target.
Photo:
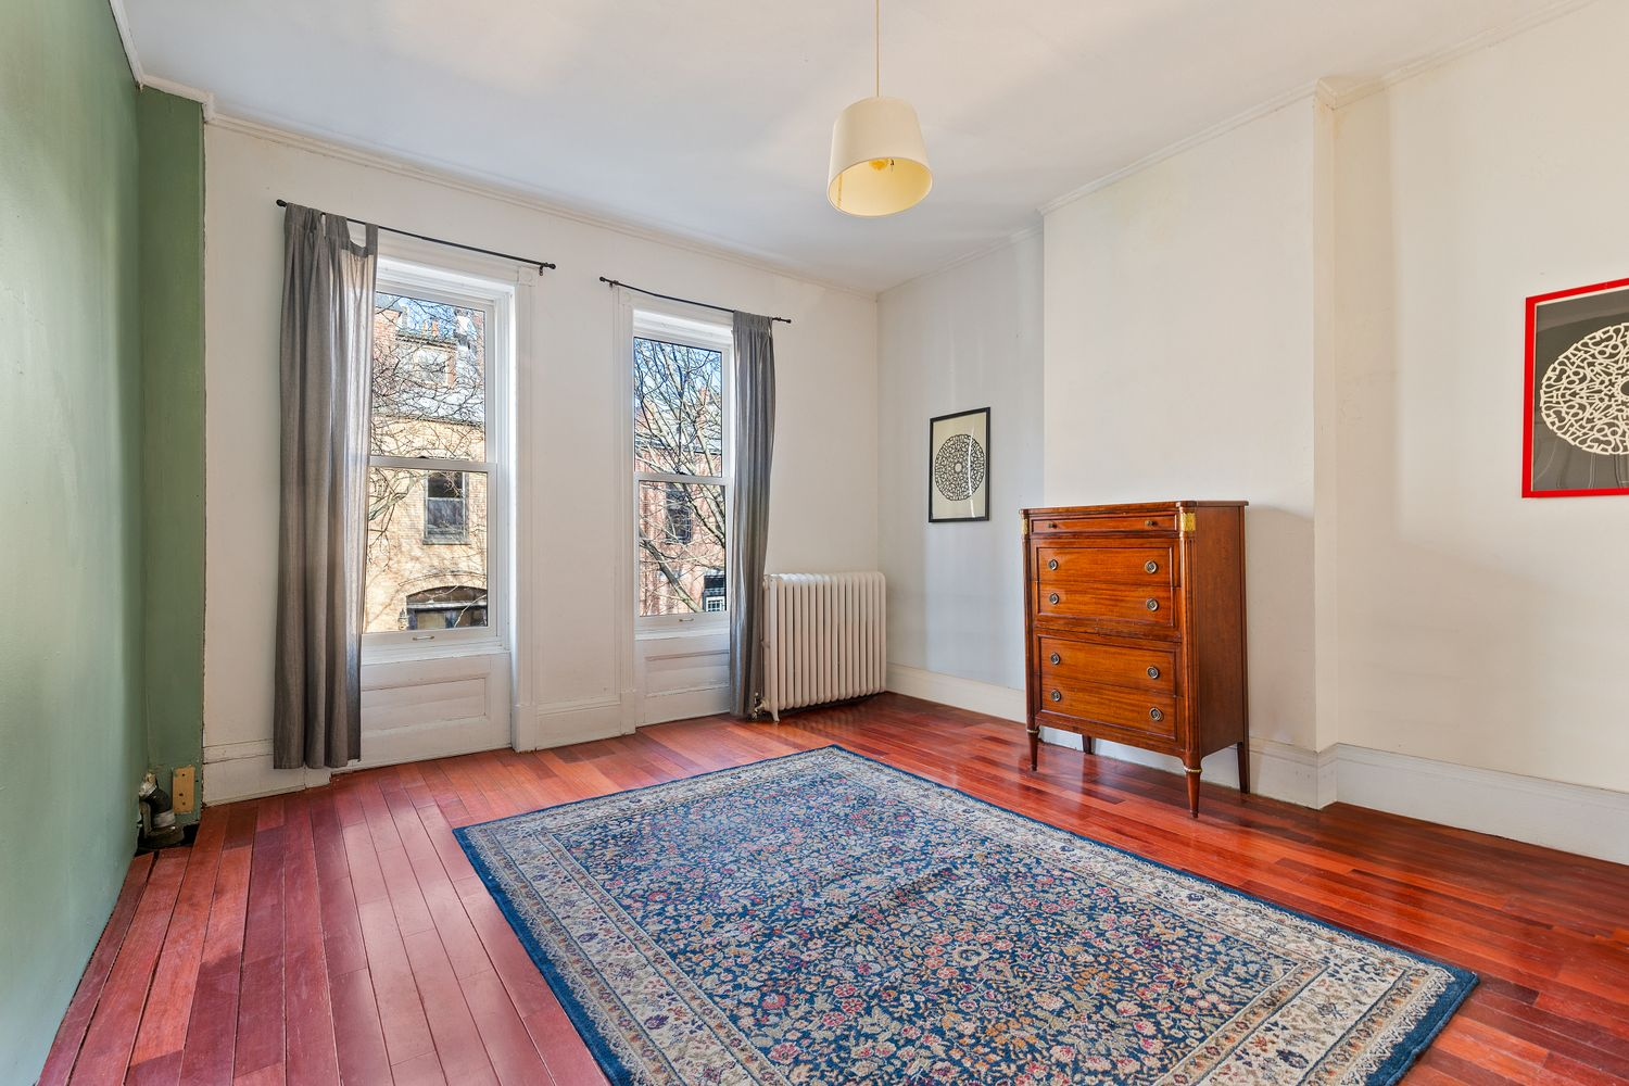
M 204 129 L 106 0 L 0 5 L 0 1083 L 33 1081 L 202 759 Z

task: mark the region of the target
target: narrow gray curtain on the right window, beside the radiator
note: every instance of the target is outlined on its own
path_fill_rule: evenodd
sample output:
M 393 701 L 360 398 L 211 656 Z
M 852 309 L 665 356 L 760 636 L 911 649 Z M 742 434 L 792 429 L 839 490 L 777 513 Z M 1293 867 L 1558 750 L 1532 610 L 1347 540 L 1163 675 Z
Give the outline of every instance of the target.
M 735 510 L 730 519 L 730 708 L 753 716 L 764 689 L 764 552 L 775 451 L 775 339 L 769 317 L 735 314 Z

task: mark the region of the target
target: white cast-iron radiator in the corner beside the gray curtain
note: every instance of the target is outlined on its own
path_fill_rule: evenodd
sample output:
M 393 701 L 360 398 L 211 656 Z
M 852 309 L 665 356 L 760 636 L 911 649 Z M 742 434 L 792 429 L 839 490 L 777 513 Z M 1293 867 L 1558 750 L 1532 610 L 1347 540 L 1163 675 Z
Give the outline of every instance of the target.
M 881 573 L 764 576 L 764 702 L 780 712 L 881 692 L 886 679 Z

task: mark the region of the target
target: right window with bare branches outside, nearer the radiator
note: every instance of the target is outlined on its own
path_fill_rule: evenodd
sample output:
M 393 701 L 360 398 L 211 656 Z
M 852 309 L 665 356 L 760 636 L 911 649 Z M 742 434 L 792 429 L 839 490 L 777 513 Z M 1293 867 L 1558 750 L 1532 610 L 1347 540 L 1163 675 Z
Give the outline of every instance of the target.
M 634 316 L 635 599 L 645 625 L 727 607 L 728 360 L 727 327 Z

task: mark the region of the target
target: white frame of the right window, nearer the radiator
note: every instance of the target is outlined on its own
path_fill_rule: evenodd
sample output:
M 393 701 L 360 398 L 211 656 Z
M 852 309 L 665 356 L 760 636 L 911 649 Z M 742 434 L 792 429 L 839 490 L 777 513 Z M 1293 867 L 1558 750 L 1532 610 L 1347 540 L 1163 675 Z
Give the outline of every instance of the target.
M 710 317 L 710 319 L 709 319 Z M 735 334 L 730 326 L 720 322 L 717 314 L 700 316 L 696 308 L 683 304 L 665 304 L 655 300 L 640 298 L 632 311 L 629 335 L 622 350 L 624 384 L 629 394 L 624 397 L 624 456 L 627 458 L 627 479 L 630 488 L 627 539 L 632 550 L 632 562 L 626 571 L 630 585 L 634 632 L 640 637 L 656 637 L 663 633 L 717 633 L 730 628 L 728 596 L 725 611 L 697 611 L 676 615 L 642 615 L 639 614 L 639 490 L 643 482 L 676 482 L 705 484 L 723 487 L 725 510 L 725 591 L 728 593 L 730 570 L 730 524 L 735 523 Z M 655 339 L 665 344 L 679 344 L 699 350 L 717 350 L 723 355 L 723 474 L 722 475 L 679 475 L 673 472 L 634 471 L 634 340 Z

